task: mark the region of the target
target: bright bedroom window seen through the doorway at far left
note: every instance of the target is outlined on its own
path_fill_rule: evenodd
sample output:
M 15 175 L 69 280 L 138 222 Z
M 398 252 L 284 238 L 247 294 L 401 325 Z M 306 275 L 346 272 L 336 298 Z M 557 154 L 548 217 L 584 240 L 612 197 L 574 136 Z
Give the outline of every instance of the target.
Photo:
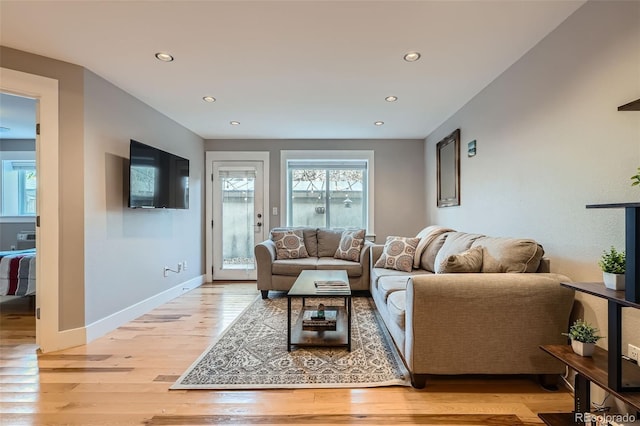
M 35 216 L 36 162 L 2 160 L 2 216 Z

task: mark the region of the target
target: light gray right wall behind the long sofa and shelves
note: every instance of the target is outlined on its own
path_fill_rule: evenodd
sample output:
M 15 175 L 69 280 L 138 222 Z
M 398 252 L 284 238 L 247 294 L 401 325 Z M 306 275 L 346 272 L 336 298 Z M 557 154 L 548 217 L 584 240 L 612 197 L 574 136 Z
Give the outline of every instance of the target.
M 624 248 L 624 211 L 585 205 L 640 200 L 640 112 L 617 111 L 640 98 L 638 76 L 640 3 L 587 2 L 426 139 L 430 222 L 535 238 L 554 272 L 602 281 L 602 250 Z M 435 145 L 456 128 L 462 203 L 439 209 Z M 577 315 L 606 332 L 605 301 L 577 298 Z M 640 311 L 628 311 L 625 349 L 640 344 Z

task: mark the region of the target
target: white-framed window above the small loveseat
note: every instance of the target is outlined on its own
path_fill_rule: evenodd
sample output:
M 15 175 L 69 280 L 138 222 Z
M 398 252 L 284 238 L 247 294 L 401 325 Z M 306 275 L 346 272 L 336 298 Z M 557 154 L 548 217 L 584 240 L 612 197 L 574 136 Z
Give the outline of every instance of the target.
M 283 165 L 287 226 L 372 230 L 372 152 L 284 151 Z

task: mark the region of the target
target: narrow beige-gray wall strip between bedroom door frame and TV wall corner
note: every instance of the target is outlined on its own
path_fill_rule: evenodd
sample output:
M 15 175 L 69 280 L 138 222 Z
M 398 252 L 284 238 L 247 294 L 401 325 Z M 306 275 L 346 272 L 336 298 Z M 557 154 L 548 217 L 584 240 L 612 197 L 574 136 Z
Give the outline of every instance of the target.
M 84 69 L 0 46 L 0 67 L 58 80 L 60 329 L 85 325 L 84 318 Z

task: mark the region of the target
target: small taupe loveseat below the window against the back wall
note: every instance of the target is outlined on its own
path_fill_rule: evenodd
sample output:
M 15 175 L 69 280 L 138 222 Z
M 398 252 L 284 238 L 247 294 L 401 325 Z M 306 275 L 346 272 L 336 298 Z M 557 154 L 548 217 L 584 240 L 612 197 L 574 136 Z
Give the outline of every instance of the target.
M 302 231 L 308 257 L 277 259 L 276 245 L 268 239 L 256 245 L 255 256 L 258 272 L 258 290 L 266 299 L 269 290 L 288 291 L 301 271 L 305 269 L 341 269 L 347 271 L 352 290 L 369 289 L 369 249 L 373 245 L 364 240 L 358 261 L 335 258 L 342 238 L 342 230 L 325 228 L 274 228 L 274 231 L 299 229 Z

